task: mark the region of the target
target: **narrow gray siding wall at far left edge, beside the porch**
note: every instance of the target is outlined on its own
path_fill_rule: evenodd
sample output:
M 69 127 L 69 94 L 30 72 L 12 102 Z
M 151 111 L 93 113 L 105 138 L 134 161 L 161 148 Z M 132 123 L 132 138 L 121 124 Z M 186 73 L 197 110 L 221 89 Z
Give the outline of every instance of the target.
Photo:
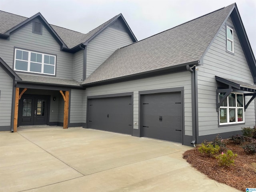
M 13 79 L 0 67 L 0 130 L 11 126 Z

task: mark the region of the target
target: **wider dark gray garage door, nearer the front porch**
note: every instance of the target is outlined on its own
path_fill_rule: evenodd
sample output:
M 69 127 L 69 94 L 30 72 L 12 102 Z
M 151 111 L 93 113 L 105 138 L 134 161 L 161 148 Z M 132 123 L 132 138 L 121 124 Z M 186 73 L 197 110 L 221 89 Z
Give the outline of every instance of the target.
M 88 128 L 132 134 L 132 97 L 89 99 Z

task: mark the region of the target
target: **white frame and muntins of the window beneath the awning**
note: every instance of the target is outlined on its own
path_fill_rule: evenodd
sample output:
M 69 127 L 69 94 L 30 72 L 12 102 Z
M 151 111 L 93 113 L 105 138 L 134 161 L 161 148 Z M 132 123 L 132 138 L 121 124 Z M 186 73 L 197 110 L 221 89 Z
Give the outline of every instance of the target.
M 230 124 L 240 124 L 240 123 L 245 123 L 245 119 L 244 119 L 244 94 L 243 93 L 238 93 L 238 92 L 231 92 L 230 94 L 236 94 L 236 106 L 235 107 L 230 107 L 229 106 L 229 100 L 228 100 L 228 96 L 226 97 L 227 98 L 227 106 L 220 106 L 220 108 L 219 108 L 219 114 L 218 114 L 218 116 L 219 116 L 219 125 L 230 125 Z M 240 95 L 242 95 L 243 96 L 243 107 L 238 107 L 237 106 L 237 94 L 240 94 Z M 220 100 L 220 93 L 219 93 L 219 95 L 218 95 L 218 99 Z M 227 111 L 227 114 L 226 114 L 226 116 L 227 116 L 227 122 L 226 123 L 221 123 L 220 122 L 220 109 L 222 109 L 222 108 L 226 108 L 226 111 Z M 236 118 L 236 122 L 229 122 L 229 109 L 231 109 L 231 108 L 233 108 L 233 109 L 235 109 L 235 118 Z M 238 109 L 242 109 L 243 110 L 243 121 L 238 121 L 238 115 L 237 115 L 237 110 Z

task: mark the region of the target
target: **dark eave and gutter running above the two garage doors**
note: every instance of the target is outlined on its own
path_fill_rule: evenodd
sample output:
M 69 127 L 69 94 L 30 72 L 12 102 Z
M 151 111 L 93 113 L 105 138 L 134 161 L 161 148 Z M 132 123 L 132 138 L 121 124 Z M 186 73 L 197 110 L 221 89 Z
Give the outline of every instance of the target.
M 170 73 L 177 72 L 177 71 L 186 71 L 187 70 L 186 66 L 199 65 L 199 63 L 200 63 L 199 60 L 195 60 L 192 62 L 186 62 L 186 63 L 178 64 L 175 66 L 169 66 L 169 67 L 160 68 L 160 69 L 156 69 L 156 70 L 145 71 L 145 72 L 141 72 L 141 73 L 112 78 L 112 79 L 108 79 L 108 80 L 102 80 L 102 81 L 98 81 L 98 82 L 81 84 L 81 86 L 84 86 L 85 88 L 87 88 L 87 87 L 100 86 L 100 85 L 112 84 L 112 83 L 117 83 L 117 82 L 124 82 L 124 81 L 128 81 L 128 80 L 136 80 L 136 79 L 142 79 L 142 78 L 147 78 L 147 77 L 152 77 L 152 76 L 170 74 Z

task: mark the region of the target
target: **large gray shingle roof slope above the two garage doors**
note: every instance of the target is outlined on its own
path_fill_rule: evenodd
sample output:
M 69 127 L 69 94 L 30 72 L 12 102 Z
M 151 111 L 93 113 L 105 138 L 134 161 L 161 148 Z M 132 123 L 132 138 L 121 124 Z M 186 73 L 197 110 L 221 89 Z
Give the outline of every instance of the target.
M 116 50 L 82 84 L 200 60 L 235 4 Z

